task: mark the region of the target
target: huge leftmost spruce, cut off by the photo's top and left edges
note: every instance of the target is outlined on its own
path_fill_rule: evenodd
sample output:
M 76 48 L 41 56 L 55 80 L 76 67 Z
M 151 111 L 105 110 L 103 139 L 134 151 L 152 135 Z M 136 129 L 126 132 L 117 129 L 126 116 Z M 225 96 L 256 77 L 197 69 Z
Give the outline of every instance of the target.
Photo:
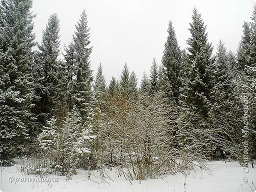
M 24 150 L 34 117 L 31 0 L 0 2 L 0 158 Z

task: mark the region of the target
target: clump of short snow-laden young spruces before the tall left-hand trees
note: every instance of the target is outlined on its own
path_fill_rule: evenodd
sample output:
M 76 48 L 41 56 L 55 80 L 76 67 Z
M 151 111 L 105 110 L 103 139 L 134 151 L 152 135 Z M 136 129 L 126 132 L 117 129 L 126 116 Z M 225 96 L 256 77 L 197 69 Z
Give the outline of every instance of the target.
M 77 110 L 67 112 L 63 122 L 52 117 L 38 135 L 40 149 L 51 160 L 50 167 L 71 176 L 76 168 L 88 168 L 90 141 L 94 136 L 85 127 Z M 54 166 L 52 166 L 54 165 Z M 70 177 L 69 177 L 70 178 Z

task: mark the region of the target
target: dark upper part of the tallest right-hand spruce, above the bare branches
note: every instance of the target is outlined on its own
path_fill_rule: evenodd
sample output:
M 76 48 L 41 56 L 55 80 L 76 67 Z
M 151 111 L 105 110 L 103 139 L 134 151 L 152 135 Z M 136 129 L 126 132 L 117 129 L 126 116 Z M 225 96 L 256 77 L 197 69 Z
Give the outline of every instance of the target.
M 192 22 L 189 23 L 191 37 L 188 38 L 189 79 L 186 82 L 185 102 L 196 112 L 206 117 L 210 107 L 212 77 L 210 66 L 214 58 L 211 43 L 207 42 L 206 26 L 201 14 L 194 8 Z

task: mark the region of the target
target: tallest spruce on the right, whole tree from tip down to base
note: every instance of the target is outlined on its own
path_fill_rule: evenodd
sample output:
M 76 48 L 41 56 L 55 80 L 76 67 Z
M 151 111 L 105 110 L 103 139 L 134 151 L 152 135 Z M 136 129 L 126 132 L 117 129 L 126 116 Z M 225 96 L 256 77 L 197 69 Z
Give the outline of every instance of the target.
M 191 37 L 188 38 L 188 53 L 182 60 L 184 75 L 182 77 L 182 87 L 180 89 L 181 106 L 176 116 L 177 131 L 180 127 L 193 129 L 190 136 L 178 141 L 180 144 L 189 145 L 193 139 L 203 141 L 199 153 L 204 157 L 211 157 L 214 150 L 212 140 L 209 136 L 213 135 L 208 119 L 211 109 L 211 91 L 213 86 L 213 62 L 211 43 L 207 42 L 206 26 L 197 9 L 193 9 L 192 22 L 189 23 Z M 184 61 L 187 61 L 184 63 Z M 184 65 L 185 64 L 185 65 Z M 189 119 L 189 120 L 188 120 Z M 189 125 L 188 125 L 189 124 Z M 189 132 L 189 130 L 187 130 Z M 176 132 L 174 132 L 176 133 Z M 198 135 L 200 135 L 198 137 Z M 191 139 L 194 137 L 193 139 Z

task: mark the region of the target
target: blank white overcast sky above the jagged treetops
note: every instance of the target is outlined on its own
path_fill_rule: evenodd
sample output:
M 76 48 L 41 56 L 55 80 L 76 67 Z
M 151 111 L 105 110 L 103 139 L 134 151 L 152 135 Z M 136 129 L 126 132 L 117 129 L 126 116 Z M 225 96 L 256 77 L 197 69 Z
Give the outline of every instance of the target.
M 149 72 L 152 58 L 161 62 L 169 20 L 180 48 L 186 48 L 195 6 L 207 25 L 214 51 L 220 38 L 228 50 L 236 51 L 241 25 L 244 20 L 250 21 L 253 3 L 254 0 L 33 0 L 32 11 L 36 13 L 34 32 L 38 42 L 50 14 L 58 14 L 62 48 L 71 42 L 74 25 L 85 9 L 93 46 L 93 74 L 101 62 L 107 81 L 111 76 L 119 78 L 127 62 L 140 83 L 143 71 Z

